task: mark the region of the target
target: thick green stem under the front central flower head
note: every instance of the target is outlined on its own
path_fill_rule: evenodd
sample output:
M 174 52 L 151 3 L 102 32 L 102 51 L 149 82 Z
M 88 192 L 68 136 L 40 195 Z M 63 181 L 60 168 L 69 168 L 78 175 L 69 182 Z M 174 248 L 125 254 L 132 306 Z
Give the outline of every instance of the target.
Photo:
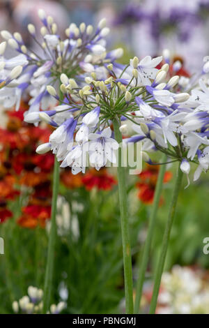
M 114 133 L 118 144 L 122 142 L 119 123 L 114 120 Z M 127 219 L 127 191 L 125 183 L 126 168 L 122 166 L 122 147 L 118 151 L 118 193 L 121 209 L 121 233 L 123 243 L 123 265 L 125 280 L 125 308 L 126 313 L 132 314 L 134 311 L 133 304 L 133 281 L 132 281 L 132 255 L 130 247 L 129 226 Z

